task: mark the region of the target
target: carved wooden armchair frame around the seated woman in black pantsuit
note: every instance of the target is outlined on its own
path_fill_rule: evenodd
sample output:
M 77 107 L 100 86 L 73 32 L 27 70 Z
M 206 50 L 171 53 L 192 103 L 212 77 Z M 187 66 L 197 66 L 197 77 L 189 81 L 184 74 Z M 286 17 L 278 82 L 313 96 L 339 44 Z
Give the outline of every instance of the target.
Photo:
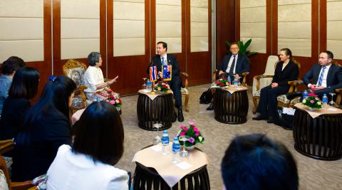
M 293 61 L 294 61 L 294 63 L 296 63 L 296 65 L 298 65 L 299 72 L 300 72 L 301 71 L 301 64 L 296 60 L 293 60 Z M 274 69 L 276 68 L 276 63 L 274 63 Z M 256 76 L 254 76 L 254 80 L 257 81 L 257 85 L 256 85 L 257 91 L 255 93 L 253 93 L 253 111 L 252 112 L 254 114 L 257 112 L 257 107 L 258 107 L 258 103 L 259 103 L 259 99 L 260 99 L 260 90 L 261 90 L 260 79 L 261 78 L 273 78 L 273 75 L 256 75 Z M 288 84 L 290 85 L 290 88 L 289 88 L 288 93 L 293 93 L 294 91 L 297 91 L 297 87 L 301 83 L 303 83 L 302 80 L 289 81 Z M 289 100 L 289 99 L 287 99 L 286 95 L 279 95 L 277 97 L 277 101 L 278 101 L 279 107 L 292 107 L 295 104 L 294 101 L 296 101 L 296 100 Z

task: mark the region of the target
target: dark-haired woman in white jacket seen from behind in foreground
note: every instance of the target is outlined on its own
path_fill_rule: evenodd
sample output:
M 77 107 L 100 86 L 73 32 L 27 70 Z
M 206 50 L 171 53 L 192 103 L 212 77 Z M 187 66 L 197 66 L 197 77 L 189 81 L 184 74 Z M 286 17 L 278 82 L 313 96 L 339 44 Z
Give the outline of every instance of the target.
M 73 145 L 59 147 L 48 169 L 47 188 L 128 189 L 127 171 L 113 167 L 123 155 L 118 111 L 108 102 L 93 102 L 78 122 Z

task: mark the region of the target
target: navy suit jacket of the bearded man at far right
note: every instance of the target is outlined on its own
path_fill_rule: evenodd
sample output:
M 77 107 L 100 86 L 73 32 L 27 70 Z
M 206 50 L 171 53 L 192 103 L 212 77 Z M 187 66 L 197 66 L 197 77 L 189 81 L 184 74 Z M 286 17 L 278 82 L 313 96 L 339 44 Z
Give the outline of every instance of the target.
M 319 72 L 321 72 L 322 66 L 319 64 L 313 65 L 308 73 L 306 73 L 303 77 L 303 81 L 306 85 L 310 83 L 315 84 L 319 78 Z M 326 78 L 326 87 L 335 90 L 336 88 L 342 88 L 342 69 L 340 66 L 331 64 L 331 67 L 328 70 L 328 76 Z

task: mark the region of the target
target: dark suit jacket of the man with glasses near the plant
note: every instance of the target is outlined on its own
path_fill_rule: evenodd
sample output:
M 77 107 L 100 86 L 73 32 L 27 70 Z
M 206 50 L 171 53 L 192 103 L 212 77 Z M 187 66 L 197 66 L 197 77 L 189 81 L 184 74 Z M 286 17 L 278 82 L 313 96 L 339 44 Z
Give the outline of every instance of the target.
M 228 68 L 228 63 L 232 55 L 226 55 L 223 57 L 221 64 L 217 67 L 217 70 L 222 70 L 224 73 L 226 73 L 226 70 Z M 237 56 L 237 62 L 235 65 L 235 73 L 242 76 L 242 73 L 249 72 L 249 62 L 248 58 L 245 55 L 238 54 Z

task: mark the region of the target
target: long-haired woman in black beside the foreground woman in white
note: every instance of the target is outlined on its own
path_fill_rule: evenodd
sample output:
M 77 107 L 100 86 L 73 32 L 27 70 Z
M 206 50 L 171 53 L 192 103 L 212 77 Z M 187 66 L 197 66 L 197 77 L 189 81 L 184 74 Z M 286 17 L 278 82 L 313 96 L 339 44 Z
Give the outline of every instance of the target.
M 66 76 L 51 76 L 38 102 L 24 118 L 14 141 L 12 180 L 32 180 L 46 174 L 58 147 L 71 137 L 69 107 L 76 84 Z

